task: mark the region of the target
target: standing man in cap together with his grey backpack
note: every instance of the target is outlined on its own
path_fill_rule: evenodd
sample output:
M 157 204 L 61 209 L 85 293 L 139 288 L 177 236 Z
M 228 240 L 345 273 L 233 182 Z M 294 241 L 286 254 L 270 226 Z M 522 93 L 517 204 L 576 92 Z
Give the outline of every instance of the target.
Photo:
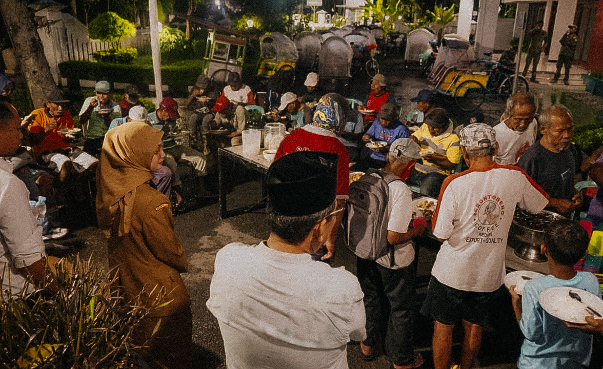
M 395 140 L 384 169 L 372 170 L 350 185 L 347 243 L 358 256 L 358 280 L 364 292 L 367 339 L 362 359 L 377 357 L 383 345 L 393 367 L 417 368 L 423 358 L 413 351 L 415 271 L 412 239 L 423 235 L 425 219 L 411 222 L 411 191 L 403 182 L 420 159 L 412 140 Z M 387 298 L 389 304 L 382 305 Z M 387 310 L 386 310 L 387 309 Z M 382 317 L 382 315 L 385 315 Z M 387 321 L 387 325 L 382 324 Z M 381 342 L 382 337 L 385 341 Z

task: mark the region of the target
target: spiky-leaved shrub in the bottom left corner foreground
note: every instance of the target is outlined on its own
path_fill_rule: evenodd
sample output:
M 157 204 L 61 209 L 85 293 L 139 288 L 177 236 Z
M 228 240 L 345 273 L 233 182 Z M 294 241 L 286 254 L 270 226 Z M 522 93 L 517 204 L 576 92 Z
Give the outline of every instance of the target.
M 74 265 L 62 259 L 52 268 L 56 295 L 48 286 L 16 297 L 2 291 L 0 367 L 130 367 L 131 352 L 137 348 L 130 342 L 134 329 L 159 305 L 157 300 L 144 306 L 144 292 L 125 300 L 113 288 L 117 274 L 107 273 L 91 258 L 78 257 Z M 27 286 L 26 282 L 24 291 Z

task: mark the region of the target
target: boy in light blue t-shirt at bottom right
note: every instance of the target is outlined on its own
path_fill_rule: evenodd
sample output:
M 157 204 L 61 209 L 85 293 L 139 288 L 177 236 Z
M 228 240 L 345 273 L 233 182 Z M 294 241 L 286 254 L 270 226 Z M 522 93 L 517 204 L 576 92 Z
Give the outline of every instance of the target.
M 548 226 L 541 253 L 549 259 L 551 275 L 529 280 L 522 296 L 511 286 L 513 309 L 525 340 L 517 360 L 523 368 L 585 368 L 589 365 L 593 337 L 567 327 L 546 312 L 538 301 L 540 292 L 555 286 L 584 289 L 601 297 L 599 282 L 592 273 L 575 271 L 589 247 L 589 235 L 577 222 L 560 219 Z M 560 301 L 561 302 L 561 301 Z

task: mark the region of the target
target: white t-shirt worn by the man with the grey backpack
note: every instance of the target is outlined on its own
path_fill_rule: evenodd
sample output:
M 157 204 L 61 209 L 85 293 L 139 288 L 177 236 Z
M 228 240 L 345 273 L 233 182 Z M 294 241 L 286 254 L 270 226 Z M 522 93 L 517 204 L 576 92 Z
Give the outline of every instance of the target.
M 376 175 L 376 174 L 373 174 Z M 390 197 L 387 203 L 388 223 L 387 229 L 398 232 L 408 232 L 408 224 L 412 216 L 412 194 L 411 190 L 403 181 L 393 181 L 389 184 Z M 390 254 L 387 253 L 375 260 L 385 268 L 401 269 L 410 265 L 414 260 L 414 248 L 412 241 L 394 245 L 394 265 L 390 266 Z

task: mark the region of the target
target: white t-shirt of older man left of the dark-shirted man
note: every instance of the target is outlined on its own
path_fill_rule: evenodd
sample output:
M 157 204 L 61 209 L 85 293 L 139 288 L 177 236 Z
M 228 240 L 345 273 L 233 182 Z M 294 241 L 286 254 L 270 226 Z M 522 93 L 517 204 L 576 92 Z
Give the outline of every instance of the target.
M 519 157 L 522 156 L 523 151 L 534 144 L 538 122 L 534 119 L 525 131 L 518 132 L 507 127 L 507 124 L 505 124 L 506 121 L 502 121 L 494 126 L 496 140 L 499 145 L 494 161 L 504 165 L 515 165 Z

